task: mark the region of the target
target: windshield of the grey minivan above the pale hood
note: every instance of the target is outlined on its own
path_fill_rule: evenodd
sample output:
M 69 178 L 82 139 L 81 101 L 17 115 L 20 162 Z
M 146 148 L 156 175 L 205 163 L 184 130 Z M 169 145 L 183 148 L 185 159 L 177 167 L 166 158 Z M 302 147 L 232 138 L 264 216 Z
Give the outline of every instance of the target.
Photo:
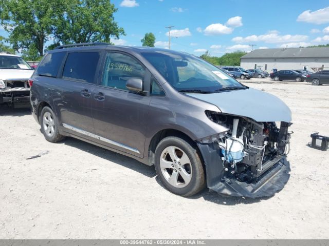
M 166 51 L 142 53 L 142 55 L 177 91 L 216 93 L 224 88 L 248 88 L 221 69 L 192 55 Z

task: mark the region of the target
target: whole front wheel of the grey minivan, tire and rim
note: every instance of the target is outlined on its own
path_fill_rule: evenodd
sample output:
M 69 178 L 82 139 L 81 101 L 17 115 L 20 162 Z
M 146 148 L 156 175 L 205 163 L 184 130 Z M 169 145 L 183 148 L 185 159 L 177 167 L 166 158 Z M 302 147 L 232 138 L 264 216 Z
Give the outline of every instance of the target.
M 163 186 L 177 195 L 195 195 L 206 185 L 202 158 L 191 140 L 163 138 L 155 150 L 155 170 Z

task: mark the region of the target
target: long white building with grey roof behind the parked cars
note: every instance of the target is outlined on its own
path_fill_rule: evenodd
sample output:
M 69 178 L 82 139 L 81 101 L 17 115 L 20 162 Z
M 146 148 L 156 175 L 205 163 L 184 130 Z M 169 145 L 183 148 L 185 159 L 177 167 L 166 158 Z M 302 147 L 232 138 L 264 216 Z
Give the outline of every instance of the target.
M 268 72 L 273 68 L 329 70 L 329 48 L 257 49 L 241 57 L 241 67 Z

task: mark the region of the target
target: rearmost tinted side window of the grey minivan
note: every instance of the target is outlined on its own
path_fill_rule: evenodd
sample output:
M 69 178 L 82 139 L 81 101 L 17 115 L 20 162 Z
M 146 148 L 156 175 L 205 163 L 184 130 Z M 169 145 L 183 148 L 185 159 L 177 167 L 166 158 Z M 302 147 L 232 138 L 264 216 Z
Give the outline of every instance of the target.
M 36 74 L 41 76 L 56 77 L 65 54 L 65 52 L 47 54 L 39 64 Z

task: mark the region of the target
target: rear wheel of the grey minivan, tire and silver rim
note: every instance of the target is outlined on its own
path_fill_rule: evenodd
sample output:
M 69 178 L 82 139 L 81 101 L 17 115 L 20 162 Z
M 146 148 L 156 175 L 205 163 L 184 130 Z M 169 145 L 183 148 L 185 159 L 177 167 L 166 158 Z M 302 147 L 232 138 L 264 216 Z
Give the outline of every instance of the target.
M 44 107 L 41 110 L 41 132 L 45 136 L 46 140 L 49 142 L 59 142 L 62 141 L 65 136 L 61 135 L 58 131 L 58 120 L 49 107 Z

